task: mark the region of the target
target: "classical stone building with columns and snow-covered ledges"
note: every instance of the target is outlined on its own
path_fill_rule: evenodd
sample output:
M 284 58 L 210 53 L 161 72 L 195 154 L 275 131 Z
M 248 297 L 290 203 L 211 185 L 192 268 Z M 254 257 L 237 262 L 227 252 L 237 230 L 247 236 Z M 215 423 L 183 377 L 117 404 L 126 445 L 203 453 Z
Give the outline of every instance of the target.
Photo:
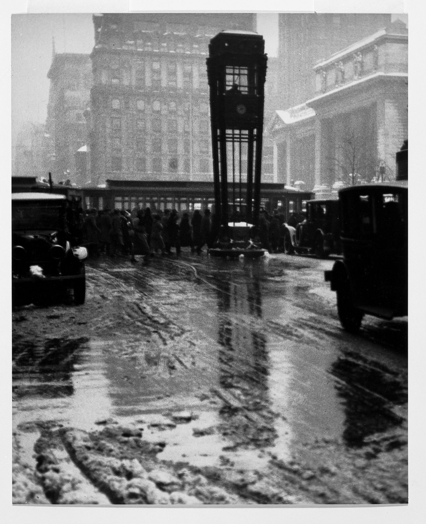
M 313 72 L 314 96 L 269 124 L 275 181 L 329 198 L 345 185 L 395 179 L 395 154 L 408 136 L 405 24 L 396 20 Z

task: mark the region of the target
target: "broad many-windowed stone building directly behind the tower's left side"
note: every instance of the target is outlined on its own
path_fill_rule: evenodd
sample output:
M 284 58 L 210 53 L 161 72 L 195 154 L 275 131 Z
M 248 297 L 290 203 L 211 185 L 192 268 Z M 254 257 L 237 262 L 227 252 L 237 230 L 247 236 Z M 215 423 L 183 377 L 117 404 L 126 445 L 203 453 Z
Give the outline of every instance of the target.
M 212 181 L 210 39 L 254 30 L 253 14 L 93 16 L 92 183 Z

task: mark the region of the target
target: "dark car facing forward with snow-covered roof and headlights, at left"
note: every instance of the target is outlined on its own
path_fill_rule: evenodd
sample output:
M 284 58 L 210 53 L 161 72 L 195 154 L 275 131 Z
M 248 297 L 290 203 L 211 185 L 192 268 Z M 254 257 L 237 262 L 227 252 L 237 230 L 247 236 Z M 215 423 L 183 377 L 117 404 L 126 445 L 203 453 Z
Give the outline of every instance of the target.
M 75 213 L 65 195 L 12 193 L 12 299 L 48 302 L 71 288 L 84 303 L 85 247 L 75 245 Z

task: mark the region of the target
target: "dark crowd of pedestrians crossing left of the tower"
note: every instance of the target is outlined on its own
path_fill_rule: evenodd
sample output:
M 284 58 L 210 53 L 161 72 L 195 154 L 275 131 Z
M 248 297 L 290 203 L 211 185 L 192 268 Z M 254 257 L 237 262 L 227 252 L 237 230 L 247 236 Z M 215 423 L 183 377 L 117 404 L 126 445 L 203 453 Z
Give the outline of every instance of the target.
M 156 255 L 176 256 L 182 247 L 189 247 L 191 253 L 202 253 L 203 247 L 210 248 L 213 241 L 211 212 L 195 210 L 190 217 L 182 217 L 176 209 L 155 211 L 120 211 L 91 209 L 83 216 L 83 245 L 93 257 L 101 255 L 130 257 L 136 262 L 135 254 L 143 255 L 147 262 Z

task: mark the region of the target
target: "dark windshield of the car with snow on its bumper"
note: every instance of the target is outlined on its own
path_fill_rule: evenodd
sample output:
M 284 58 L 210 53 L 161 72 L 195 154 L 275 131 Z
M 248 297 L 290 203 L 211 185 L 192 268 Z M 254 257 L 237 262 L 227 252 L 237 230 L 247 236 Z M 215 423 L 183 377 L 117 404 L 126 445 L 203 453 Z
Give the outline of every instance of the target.
M 58 230 L 64 225 L 64 207 L 59 202 L 14 202 L 13 230 Z

